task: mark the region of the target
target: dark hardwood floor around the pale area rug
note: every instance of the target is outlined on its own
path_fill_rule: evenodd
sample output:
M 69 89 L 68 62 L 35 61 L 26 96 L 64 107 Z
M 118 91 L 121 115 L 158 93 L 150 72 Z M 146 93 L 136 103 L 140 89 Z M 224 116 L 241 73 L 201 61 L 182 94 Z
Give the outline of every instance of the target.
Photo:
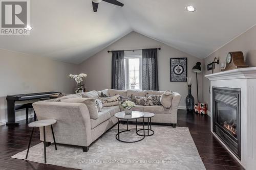
M 32 122 L 32 119 L 29 121 Z M 31 129 L 26 120 L 20 121 L 19 127 L 0 126 L 0 169 L 72 169 L 54 165 L 10 158 L 18 152 L 27 149 Z M 178 112 L 178 127 L 188 127 L 193 137 L 198 152 L 207 170 L 221 169 L 234 170 L 244 169 L 229 154 L 223 145 L 210 132 L 210 117 L 187 113 L 184 110 Z M 38 144 L 39 130 L 33 135 L 31 146 Z M 182 169 L 181 169 L 182 170 Z

